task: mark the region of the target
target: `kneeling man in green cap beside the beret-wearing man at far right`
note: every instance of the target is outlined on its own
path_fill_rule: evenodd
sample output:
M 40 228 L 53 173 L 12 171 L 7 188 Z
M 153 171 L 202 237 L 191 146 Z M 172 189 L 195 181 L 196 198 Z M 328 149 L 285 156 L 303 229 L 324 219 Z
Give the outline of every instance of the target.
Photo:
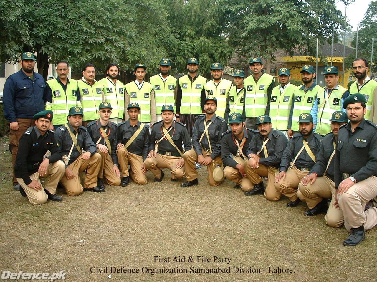
M 331 116 L 331 133 L 323 137 L 320 143 L 316 164 L 309 174 L 301 179 L 297 195 L 306 202 L 309 210 L 306 216 L 317 215 L 327 210 L 327 199 L 331 199 L 325 216 L 326 224 L 339 227 L 343 224 L 343 213 L 335 203 L 334 155 L 340 126 L 348 122 L 345 112 L 336 111 Z M 318 177 L 321 176 L 321 177 Z M 317 178 L 318 177 L 318 178 Z

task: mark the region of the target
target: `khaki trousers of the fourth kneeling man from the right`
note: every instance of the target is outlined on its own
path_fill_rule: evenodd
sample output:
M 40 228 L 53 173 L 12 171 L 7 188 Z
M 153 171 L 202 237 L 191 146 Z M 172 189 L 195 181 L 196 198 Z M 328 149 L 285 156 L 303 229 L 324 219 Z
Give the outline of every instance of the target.
M 262 182 L 261 176 L 268 177 L 264 196 L 269 201 L 277 201 L 280 199 L 281 193 L 277 191 L 274 186 L 275 176 L 278 172 L 276 168 L 267 167 L 261 164 L 259 164 L 259 168 L 251 168 L 248 160 L 245 161 L 244 168 L 245 168 L 247 177 L 250 179 L 251 183 L 253 183 L 253 186 L 251 187 L 251 189 L 254 188 L 254 184 L 258 184 Z

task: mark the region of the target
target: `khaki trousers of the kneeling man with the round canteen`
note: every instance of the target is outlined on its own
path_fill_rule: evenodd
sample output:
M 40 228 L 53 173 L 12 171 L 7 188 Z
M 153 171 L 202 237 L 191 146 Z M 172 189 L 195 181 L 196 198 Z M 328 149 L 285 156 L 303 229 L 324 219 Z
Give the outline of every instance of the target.
M 202 149 L 202 154 L 203 154 L 203 158 L 207 158 L 209 155 L 211 155 L 209 152 L 207 153 L 203 149 Z M 185 159 L 187 181 L 192 181 L 192 180 L 197 179 L 198 171 L 195 169 L 195 162 L 198 162 L 198 155 L 196 155 L 195 150 L 191 149 L 190 151 L 185 152 L 183 155 L 183 158 Z M 215 158 L 213 162 L 215 163 L 215 167 L 217 165 L 221 166 L 222 164 L 221 156 L 218 156 L 217 158 Z M 215 179 L 213 179 L 213 170 L 215 169 L 215 167 L 213 167 L 212 162 L 209 165 L 207 165 L 207 172 L 208 172 L 207 180 L 211 186 L 219 186 L 222 182 L 222 181 L 215 181 Z

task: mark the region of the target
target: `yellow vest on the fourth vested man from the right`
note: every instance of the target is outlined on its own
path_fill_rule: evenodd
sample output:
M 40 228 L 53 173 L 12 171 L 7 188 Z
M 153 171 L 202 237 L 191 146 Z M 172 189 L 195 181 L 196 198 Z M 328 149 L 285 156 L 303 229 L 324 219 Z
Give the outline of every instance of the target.
M 280 85 L 274 87 L 270 100 L 270 118 L 274 129 L 287 130 L 293 92 L 296 85 L 290 84 L 280 93 Z

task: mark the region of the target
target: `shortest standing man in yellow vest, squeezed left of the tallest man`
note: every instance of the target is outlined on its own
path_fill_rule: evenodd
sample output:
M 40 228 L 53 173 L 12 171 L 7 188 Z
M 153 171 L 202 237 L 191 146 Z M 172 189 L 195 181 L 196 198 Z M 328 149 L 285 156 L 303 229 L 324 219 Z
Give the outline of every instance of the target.
M 245 72 L 241 70 L 235 70 L 233 79 L 236 86 L 230 89 L 229 92 L 229 114 L 238 112 L 243 117 L 245 117 Z

